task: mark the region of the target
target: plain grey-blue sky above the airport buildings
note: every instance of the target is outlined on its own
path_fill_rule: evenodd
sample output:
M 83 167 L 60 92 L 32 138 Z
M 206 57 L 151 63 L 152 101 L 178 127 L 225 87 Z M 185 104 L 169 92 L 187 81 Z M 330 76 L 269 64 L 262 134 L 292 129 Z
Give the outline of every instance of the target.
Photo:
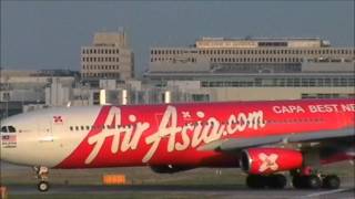
M 1 0 L 1 67 L 80 70 L 93 34 L 124 28 L 136 75 L 152 46 L 187 46 L 202 36 L 314 38 L 354 46 L 354 0 L 9 1 Z

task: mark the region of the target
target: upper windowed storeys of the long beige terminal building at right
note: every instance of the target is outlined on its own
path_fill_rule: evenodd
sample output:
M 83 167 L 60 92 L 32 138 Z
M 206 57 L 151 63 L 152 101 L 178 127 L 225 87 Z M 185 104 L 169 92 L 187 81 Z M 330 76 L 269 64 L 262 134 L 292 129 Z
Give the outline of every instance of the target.
M 224 39 L 202 38 L 191 48 L 152 48 L 150 62 L 206 61 L 211 64 L 277 64 L 292 66 L 304 61 L 352 62 L 354 48 L 333 48 L 321 39 Z M 234 66 L 231 65 L 231 66 Z

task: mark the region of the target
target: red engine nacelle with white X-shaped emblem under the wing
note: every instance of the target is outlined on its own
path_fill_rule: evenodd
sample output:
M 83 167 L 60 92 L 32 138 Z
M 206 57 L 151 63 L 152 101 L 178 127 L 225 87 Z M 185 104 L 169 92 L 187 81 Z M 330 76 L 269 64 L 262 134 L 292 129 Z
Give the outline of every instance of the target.
M 253 175 L 267 175 L 301 168 L 303 155 L 285 148 L 250 148 L 242 151 L 240 166 Z

